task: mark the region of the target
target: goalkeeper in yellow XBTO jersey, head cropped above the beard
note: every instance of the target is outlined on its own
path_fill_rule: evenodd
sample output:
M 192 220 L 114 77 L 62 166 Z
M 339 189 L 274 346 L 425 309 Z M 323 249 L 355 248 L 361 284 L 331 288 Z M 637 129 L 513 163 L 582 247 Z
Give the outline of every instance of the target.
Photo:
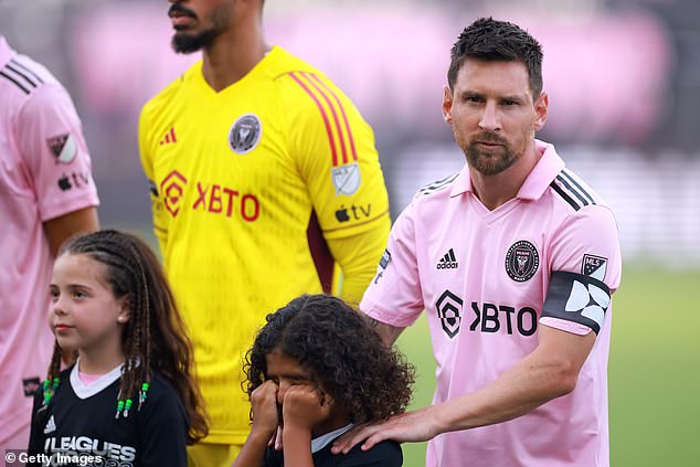
M 389 203 L 371 128 L 321 72 L 265 42 L 262 0 L 170 3 L 173 49 L 203 56 L 144 107 L 140 155 L 211 416 L 190 464 L 230 466 L 250 429 L 241 362 L 265 316 L 336 290 L 338 269 L 357 304 Z

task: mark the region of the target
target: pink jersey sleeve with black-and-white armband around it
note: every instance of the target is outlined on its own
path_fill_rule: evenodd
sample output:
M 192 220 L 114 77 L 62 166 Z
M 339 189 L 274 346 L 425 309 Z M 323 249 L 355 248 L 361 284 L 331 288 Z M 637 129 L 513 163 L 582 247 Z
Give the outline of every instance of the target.
M 598 333 L 622 275 L 613 213 L 591 205 L 571 215 L 550 245 L 550 265 L 540 322 L 577 335 Z

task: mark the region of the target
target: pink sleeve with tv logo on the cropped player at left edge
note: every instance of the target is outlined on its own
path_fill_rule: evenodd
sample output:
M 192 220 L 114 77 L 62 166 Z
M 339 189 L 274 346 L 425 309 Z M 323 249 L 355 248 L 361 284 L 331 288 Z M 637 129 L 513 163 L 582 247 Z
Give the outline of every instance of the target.
M 40 217 L 98 204 L 81 120 L 67 92 L 47 83 L 19 114 L 18 147 L 32 172 Z

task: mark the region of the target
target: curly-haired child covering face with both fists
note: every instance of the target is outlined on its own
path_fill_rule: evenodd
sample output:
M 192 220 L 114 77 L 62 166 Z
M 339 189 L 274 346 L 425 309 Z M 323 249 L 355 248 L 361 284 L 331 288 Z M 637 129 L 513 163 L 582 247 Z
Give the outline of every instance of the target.
M 402 465 L 395 442 L 330 454 L 353 424 L 402 412 L 413 384 L 413 369 L 339 298 L 305 295 L 268 315 L 245 371 L 253 426 L 234 467 Z M 278 426 L 282 452 L 268 447 Z

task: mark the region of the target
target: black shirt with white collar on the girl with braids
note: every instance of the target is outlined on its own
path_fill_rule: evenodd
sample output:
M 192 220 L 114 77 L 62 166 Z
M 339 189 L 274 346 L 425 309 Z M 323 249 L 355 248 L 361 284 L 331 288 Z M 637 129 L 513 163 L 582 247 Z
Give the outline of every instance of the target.
M 29 454 L 52 456 L 50 465 L 74 465 L 75 456 L 93 456 L 95 466 L 184 467 L 188 420 L 176 391 L 153 373 L 140 411 L 135 401 L 127 417 L 115 418 L 120 376 L 117 367 L 85 385 L 74 365 L 61 373 L 47 406 L 42 405 L 43 390 L 38 391 Z

